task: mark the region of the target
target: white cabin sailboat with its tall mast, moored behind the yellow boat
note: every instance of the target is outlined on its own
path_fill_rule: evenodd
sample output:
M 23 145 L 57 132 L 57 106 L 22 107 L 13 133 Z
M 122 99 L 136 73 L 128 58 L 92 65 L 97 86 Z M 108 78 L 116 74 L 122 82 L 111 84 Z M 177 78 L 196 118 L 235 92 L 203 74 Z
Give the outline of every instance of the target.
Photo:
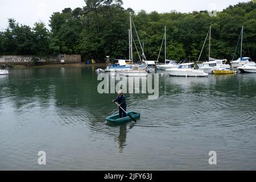
M 212 27 L 210 27 L 210 30 L 208 31 L 208 34 L 207 34 L 207 38 L 208 38 L 208 35 L 209 35 L 209 60 L 207 62 L 204 62 L 203 66 L 199 68 L 199 70 L 204 71 L 205 73 L 208 73 L 208 74 L 213 74 L 214 70 L 218 70 L 218 69 L 230 69 L 230 65 L 224 64 L 224 63 L 227 62 L 227 60 L 217 60 L 217 59 L 213 59 L 212 57 L 210 57 L 211 30 L 212 30 Z M 205 39 L 205 42 L 206 42 L 207 38 Z M 205 46 L 205 42 L 204 42 L 204 46 Z M 201 57 L 201 54 L 203 52 L 204 46 L 203 46 L 202 51 L 200 53 L 199 59 L 197 61 L 200 60 L 200 57 Z

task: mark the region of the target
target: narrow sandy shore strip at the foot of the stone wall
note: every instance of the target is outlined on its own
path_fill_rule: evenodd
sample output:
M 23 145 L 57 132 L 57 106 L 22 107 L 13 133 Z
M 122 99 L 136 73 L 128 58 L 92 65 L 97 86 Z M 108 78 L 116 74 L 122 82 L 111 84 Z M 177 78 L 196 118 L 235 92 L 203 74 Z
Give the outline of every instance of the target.
M 32 67 L 27 67 L 26 65 L 13 65 L 14 69 L 18 68 L 63 68 L 63 67 L 106 67 L 106 63 L 96 63 L 96 64 L 46 64 L 46 65 L 34 65 Z

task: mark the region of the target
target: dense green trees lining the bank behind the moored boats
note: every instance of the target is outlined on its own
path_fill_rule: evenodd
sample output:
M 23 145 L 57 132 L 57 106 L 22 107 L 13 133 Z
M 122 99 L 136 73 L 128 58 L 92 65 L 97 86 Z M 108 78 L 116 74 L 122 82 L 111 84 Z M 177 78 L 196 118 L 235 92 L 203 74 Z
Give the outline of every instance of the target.
M 122 0 L 85 0 L 84 7 L 51 15 L 50 30 L 38 22 L 34 27 L 9 19 L 9 26 L 0 31 L 0 55 L 58 55 L 81 54 L 82 57 L 103 61 L 112 58 L 129 58 L 129 16 L 132 14 L 139 38 L 144 44 L 147 60 L 156 60 L 167 27 L 167 58 L 171 60 L 197 60 L 209 27 L 212 27 L 211 57 L 231 60 L 240 46 L 241 28 L 244 26 L 243 56 L 256 58 L 256 3 L 238 3 L 209 16 L 208 11 L 192 13 L 135 13 L 124 9 Z M 134 41 L 141 53 L 137 36 Z M 207 44 L 206 44 L 207 45 Z M 236 59 L 240 57 L 237 49 Z M 139 60 L 134 50 L 135 59 Z M 164 61 L 164 49 L 160 52 Z M 201 61 L 208 60 L 208 46 Z

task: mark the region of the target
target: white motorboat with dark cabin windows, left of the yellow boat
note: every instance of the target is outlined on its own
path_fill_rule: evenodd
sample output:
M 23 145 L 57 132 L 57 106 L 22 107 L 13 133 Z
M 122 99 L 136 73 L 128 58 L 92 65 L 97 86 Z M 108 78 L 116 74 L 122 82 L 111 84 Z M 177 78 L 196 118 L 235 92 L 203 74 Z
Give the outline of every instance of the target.
M 195 68 L 195 63 L 183 63 L 177 68 L 166 70 L 170 76 L 207 77 L 208 73 Z

